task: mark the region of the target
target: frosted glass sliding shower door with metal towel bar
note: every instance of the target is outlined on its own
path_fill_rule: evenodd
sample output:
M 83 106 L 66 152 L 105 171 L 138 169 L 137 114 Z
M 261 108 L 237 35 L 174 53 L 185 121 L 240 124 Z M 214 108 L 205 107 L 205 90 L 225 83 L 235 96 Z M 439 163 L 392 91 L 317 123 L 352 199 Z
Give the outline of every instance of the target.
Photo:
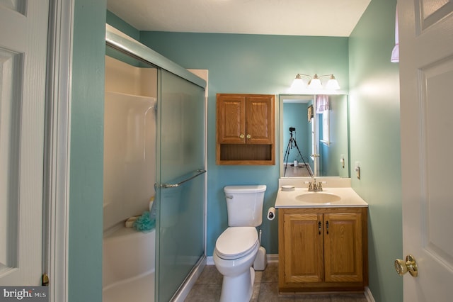
M 205 91 L 160 73 L 156 301 L 170 301 L 205 254 Z

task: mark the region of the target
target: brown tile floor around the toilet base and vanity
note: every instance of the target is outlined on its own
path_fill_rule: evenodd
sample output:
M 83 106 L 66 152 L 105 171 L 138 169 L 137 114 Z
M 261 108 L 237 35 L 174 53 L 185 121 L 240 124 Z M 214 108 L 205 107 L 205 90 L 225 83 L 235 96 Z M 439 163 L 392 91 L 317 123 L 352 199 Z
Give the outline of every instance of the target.
M 219 301 L 222 291 L 222 274 L 214 265 L 207 265 L 185 302 Z M 331 295 L 279 295 L 278 294 L 278 263 L 270 262 L 263 272 L 255 272 L 252 302 L 367 302 L 363 293 L 331 294 Z

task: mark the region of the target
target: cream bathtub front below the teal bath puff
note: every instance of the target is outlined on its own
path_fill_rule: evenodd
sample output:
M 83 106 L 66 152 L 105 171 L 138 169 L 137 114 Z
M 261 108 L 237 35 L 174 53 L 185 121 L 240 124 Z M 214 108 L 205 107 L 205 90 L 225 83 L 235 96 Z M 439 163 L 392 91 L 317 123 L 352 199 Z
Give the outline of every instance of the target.
M 118 227 L 103 238 L 103 302 L 154 301 L 156 231 Z

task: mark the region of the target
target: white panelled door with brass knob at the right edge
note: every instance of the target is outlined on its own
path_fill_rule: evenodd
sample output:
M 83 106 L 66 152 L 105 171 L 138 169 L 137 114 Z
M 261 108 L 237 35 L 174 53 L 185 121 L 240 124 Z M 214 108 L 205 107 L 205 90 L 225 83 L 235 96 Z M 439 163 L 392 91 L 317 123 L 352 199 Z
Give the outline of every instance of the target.
M 453 2 L 398 1 L 404 301 L 452 301 Z

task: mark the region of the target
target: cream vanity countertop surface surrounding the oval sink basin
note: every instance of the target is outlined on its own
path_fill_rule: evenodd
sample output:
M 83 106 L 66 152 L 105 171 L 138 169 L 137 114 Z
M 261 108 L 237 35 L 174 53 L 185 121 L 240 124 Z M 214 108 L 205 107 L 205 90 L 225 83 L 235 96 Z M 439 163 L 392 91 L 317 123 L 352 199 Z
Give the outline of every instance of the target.
M 340 196 L 340 201 L 319 203 L 297 200 L 301 194 L 335 194 Z M 275 208 L 341 208 L 341 207 L 367 207 L 368 204 L 352 188 L 348 187 L 323 187 L 323 191 L 309 192 L 308 188 L 294 188 L 293 191 L 278 189 Z

